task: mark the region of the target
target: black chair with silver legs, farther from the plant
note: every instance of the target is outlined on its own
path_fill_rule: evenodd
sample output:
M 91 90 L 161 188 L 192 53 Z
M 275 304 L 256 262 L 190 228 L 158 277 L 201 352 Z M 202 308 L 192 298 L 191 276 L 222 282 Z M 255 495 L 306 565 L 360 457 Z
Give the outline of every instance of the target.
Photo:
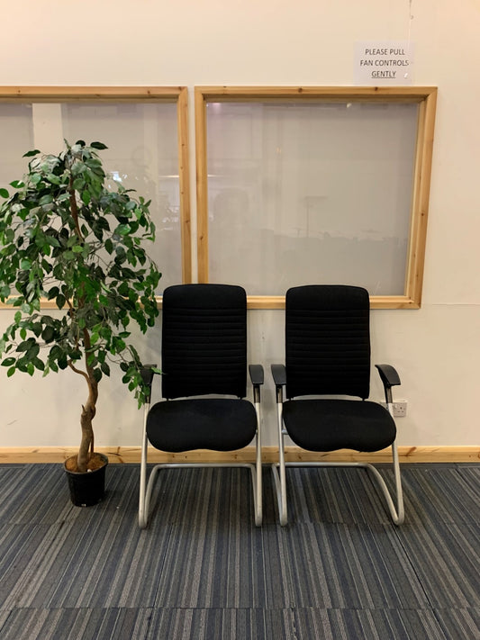
M 272 465 L 272 471 L 282 525 L 287 522 L 285 465 L 365 467 L 384 494 L 394 523 L 403 522 L 402 482 L 392 404 L 392 387 L 400 384 L 400 378 L 393 366 L 376 365 L 384 383 L 387 409 L 377 402 L 367 401 L 370 386 L 369 311 L 368 293 L 360 287 L 307 285 L 294 287 L 286 293 L 285 365 L 272 365 L 279 441 L 279 462 Z M 306 399 L 304 396 L 314 397 Z M 290 436 L 295 445 L 315 452 L 343 448 L 373 452 L 392 446 L 396 508 L 384 479 L 372 464 L 285 463 L 285 435 Z

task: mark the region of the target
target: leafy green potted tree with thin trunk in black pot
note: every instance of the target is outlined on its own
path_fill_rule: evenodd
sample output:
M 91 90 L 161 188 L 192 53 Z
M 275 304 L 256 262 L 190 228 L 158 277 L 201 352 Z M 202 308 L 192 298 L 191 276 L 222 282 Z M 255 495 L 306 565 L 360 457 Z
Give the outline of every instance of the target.
M 107 182 L 102 149 L 78 140 L 58 156 L 29 151 L 27 173 L 11 183 L 15 193 L 0 190 L 0 300 L 16 310 L 0 338 L 1 364 L 7 376 L 70 369 L 83 378 L 81 442 L 65 463 L 80 482 L 107 462 L 95 454 L 92 422 L 98 384 L 113 363 L 139 406 L 145 399 L 129 338 L 133 322 L 143 333 L 154 324 L 161 275 L 143 246 L 155 238 L 149 202 Z M 94 503 L 99 491 L 85 500 L 71 491 L 72 500 Z

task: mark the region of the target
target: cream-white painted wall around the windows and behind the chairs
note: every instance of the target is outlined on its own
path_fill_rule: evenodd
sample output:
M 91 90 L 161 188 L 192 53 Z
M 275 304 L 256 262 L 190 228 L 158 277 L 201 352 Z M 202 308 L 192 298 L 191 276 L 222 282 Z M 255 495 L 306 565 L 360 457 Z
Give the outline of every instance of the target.
M 476 445 L 479 32 L 477 0 L 19 0 L 4 7 L 0 85 L 351 85 L 356 41 L 410 36 L 414 84 L 439 86 L 423 305 L 373 311 L 373 361 L 397 365 L 403 379 L 400 445 Z M 0 331 L 10 320 L 0 311 Z M 251 360 L 269 368 L 283 354 L 283 314 L 250 311 L 249 320 Z M 156 341 L 158 329 L 142 342 L 149 361 Z M 2 370 L 0 446 L 76 445 L 82 387 L 69 372 L 7 380 Z M 140 414 L 119 378 L 100 393 L 96 444 L 139 445 Z M 372 395 L 381 398 L 376 379 Z M 268 445 L 269 376 L 264 398 Z

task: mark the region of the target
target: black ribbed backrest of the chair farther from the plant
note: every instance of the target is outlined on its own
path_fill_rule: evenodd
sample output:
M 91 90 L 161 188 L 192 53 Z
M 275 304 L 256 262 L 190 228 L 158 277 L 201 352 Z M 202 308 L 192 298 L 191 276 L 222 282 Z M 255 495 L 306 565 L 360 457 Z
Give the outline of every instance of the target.
M 367 398 L 370 304 L 365 289 L 312 284 L 285 299 L 287 398 L 339 394 Z

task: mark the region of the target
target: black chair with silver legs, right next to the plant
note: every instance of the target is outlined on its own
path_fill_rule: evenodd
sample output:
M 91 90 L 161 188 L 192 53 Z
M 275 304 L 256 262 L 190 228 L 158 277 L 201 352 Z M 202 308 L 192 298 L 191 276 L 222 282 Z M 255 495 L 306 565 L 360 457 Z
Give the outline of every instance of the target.
M 250 365 L 254 403 L 247 393 L 247 296 L 229 284 L 180 284 L 163 294 L 162 397 L 145 405 L 140 465 L 139 525 L 146 527 L 153 486 L 168 467 L 240 466 L 251 471 L 255 524 L 262 521 L 260 385 L 263 367 Z M 143 378 L 151 383 L 147 367 Z M 220 397 L 219 397 L 220 396 Z M 225 397 L 227 396 L 227 397 Z M 234 397 L 231 397 L 234 396 Z M 163 463 L 149 475 L 150 443 L 169 453 L 209 449 L 233 451 L 255 439 L 256 463 Z

